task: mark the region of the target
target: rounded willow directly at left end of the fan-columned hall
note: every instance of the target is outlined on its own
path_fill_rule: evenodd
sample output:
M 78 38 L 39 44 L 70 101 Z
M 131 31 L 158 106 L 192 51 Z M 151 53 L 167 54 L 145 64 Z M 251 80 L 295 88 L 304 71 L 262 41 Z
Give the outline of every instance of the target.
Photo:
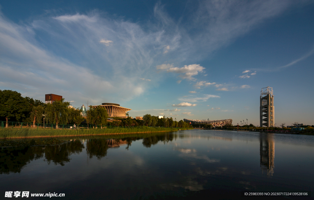
M 100 105 L 97 107 L 89 107 L 89 110 L 87 111 L 88 114 L 88 121 L 91 124 L 94 124 L 96 126 L 102 126 L 106 125 L 108 113 L 106 108 L 101 107 Z

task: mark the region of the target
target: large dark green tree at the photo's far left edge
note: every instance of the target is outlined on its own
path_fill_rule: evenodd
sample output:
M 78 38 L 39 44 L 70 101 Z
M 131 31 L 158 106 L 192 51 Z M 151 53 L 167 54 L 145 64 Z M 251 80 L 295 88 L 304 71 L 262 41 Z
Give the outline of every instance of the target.
M 0 90 L 0 116 L 5 117 L 8 127 L 8 120 L 15 117 L 16 121 L 20 121 L 25 117 L 24 112 L 27 111 L 26 100 L 17 91 Z

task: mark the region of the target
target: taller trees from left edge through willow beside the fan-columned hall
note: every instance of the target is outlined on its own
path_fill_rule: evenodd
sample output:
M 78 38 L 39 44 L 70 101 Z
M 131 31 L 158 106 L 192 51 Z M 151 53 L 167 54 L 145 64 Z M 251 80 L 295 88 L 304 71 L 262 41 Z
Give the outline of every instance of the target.
M 88 118 L 81 115 L 79 108 L 70 106 L 64 101 L 54 101 L 52 104 L 45 104 L 40 100 L 22 97 L 20 93 L 12 90 L 0 90 L 0 121 L 8 121 L 56 124 L 81 124 L 84 120 L 94 125 L 105 125 L 108 114 L 105 108 L 91 107 L 88 110 Z

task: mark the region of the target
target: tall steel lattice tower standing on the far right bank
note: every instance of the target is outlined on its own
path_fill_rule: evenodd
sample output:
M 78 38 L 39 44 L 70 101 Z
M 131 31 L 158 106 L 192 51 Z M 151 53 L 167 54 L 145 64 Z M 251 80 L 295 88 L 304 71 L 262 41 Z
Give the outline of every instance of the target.
M 273 127 L 274 118 L 274 95 L 273 88 L 262 88 L 260 96 L 260 126 Z

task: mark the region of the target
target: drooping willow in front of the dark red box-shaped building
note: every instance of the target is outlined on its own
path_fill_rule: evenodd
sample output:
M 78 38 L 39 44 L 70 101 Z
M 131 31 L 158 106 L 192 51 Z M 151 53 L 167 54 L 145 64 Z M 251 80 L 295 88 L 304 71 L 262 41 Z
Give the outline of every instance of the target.
M 64 98 L 60 101 L 54 101 L 52 104 L 47 104 L 46 107 L 46 119 L 49 123 L 56 124 L 58 128 L 59 123 L 67 123 L 69 116 L 68 106 L 69 102 L 64 102 Z

